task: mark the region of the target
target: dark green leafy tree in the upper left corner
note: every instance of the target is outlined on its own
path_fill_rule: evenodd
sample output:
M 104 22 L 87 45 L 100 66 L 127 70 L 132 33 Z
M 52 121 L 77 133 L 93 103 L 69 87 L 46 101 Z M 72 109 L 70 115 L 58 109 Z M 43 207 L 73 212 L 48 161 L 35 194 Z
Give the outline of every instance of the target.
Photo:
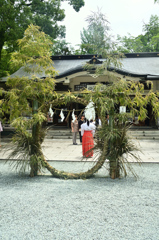
M 79 11 L 83 0 L 65 0 Z M 23 37 L 24 30 L 32 23 L 53 39 L 65 37 L 65 26 L 58 25 L 65 17 L 61 0 L 0 0 L 0 62 L 3 47 L 8 53 L 17 50 L 17 40 Z M 4 61 L 4 60 L 3 60 Z

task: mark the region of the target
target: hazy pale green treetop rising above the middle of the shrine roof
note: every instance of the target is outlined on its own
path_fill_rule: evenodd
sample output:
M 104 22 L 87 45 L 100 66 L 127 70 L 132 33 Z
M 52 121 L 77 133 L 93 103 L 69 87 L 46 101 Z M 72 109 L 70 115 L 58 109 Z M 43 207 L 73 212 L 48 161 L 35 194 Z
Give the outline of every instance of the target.
M 112 47 L 111 37 L 108 34 L 110 27 L 105 15 L 98 9 L 86 19 L 87 29 L 81 32 L 81 53 L 102 54 L 103 50 Z

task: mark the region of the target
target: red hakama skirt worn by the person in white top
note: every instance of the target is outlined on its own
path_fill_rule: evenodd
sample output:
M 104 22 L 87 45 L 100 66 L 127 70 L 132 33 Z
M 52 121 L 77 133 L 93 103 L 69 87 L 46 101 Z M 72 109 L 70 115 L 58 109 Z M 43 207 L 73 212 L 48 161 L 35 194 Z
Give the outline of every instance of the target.
M 84 131 L 82 137 L 82 152 L 84 157 L 93 157 L 93 134 L 92 131 Z M 91 150 L 92 149 L 92 150 Z

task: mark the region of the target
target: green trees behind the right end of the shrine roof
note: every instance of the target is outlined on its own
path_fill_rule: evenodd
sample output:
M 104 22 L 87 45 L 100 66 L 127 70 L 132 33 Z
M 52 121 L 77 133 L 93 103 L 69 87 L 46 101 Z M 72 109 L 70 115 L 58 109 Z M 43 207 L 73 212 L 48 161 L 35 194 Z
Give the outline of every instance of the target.
M 137 37 L 131 34 L 118 35 L 118 51 L 121 52 L 158 52 L 159 51 L 159 17 L 151 15 L 149 23 L 143 24 L 144 34 Z

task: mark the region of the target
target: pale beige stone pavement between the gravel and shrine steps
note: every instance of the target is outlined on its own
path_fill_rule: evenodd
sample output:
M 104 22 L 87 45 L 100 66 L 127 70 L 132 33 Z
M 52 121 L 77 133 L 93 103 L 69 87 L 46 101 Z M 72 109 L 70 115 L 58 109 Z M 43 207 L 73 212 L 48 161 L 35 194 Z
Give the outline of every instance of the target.
M 141 149 L 138 152 L 143 162 L 159 163 L 159 140 L 133 140 Z M 47 160 L 52 161 L 81 161 L 86 160 L 82 157 L 82 145 L 77 140 L 78 145 L 73 145 L 71 139 L 46 139 L 42 145 L 43 153 Z M 11 152 L 11 143 L 3 142 L 0 148 L 0 159 L 7 159 Z M 95 154 L 94 154 L 95 155 Z M 95 161 L 93 158 L 87 161 Z M 131 162 L 132 159 L 129 158 Z

